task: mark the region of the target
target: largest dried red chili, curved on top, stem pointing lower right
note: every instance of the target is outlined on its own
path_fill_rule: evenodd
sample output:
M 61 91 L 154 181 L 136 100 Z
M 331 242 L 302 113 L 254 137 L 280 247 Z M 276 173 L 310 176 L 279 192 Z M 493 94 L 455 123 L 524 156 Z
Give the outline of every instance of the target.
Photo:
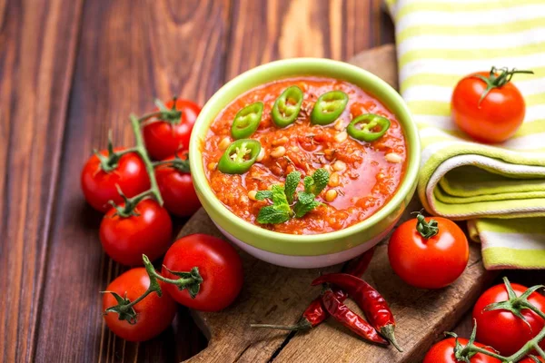
M 358 306 L 362 308 L 371 325 L 379 330 L 384 337 L 388 338 L 395 348 L 402 351 L 393 333 L 395 328 L 393 314 L 379 291 L 373 289 L 364 280 L 346 273 L 330 273 L 312 281 L 312 285 L 324 283 L 331 283 L 346 291 L 348 296 L 354 299 Z

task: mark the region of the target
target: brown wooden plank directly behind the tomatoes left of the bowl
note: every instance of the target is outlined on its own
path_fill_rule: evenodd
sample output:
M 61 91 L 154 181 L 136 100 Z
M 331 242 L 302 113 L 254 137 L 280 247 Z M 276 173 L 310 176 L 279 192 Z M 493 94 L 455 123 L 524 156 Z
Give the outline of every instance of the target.
M 186 356 L 178 354 L 192 354 L 176 348 L 186 333 L 182 308 L 173 328 L 140 345 L 104 326 L 99 291 L 124 269 L 104 255 L 101 215 L 85 205 L 79 174 L 93 148 L 104 148 L 108 129 L 116 144 L 132 144 L 128 115 L 149 111 L 155 97 L 210 97 L 223 82 L 228 28 L 226 1 L 85 2 L 37 360 L 179 361 Z

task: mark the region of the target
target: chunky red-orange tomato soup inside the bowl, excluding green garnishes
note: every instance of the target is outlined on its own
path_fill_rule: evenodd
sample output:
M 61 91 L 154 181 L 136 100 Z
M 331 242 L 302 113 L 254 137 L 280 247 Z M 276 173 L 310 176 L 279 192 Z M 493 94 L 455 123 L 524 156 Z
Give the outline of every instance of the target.
M 303 92 L 301 112 L 294 123 L 280 128 L 272 122 L 272 106 L 292 85 L 299 86 Z M 340 90 L 349 97 L 341 116 L 328 125 L 312 124 L 310 115 L 314 103 L 320 95 L 333 90 Z M 258 101 L 264 104 L 262 119 L 248 138 L 261 142 L 263 159 L 258 158 L 260 161 L 254 162 L 243 174 L 220 172 L 217 163 L 226 146 L 234 142 L 231 127 L 236 113 Z M 352 138 L 346 128 L 353 118 L 363 113 L 387 118 L 390 128 L 373 142 Z M 399 188 L 406 159 L 405 137 L 395 115 L 354 84 L 331 78 L 284 79 L 244 93 L 216 116 L 203 142 L 204 171 L 216 197 L 244 221 L 292 234 L 339 231 L 369 218 L 390 201 Z M 257 222 L 260 209 L 272 202 L 255 201 L 254 191 L 282 184 L 292 171 L 301 172 L 303 178 L 320 168 L 330 172 L 328 186 L 316 197 L 322 205 L 302 218 L 293 217 L 283 223 Z M 298 188 L 301 190 L 302 182 Z M 334 191 L 326 198 L 330 190 Z

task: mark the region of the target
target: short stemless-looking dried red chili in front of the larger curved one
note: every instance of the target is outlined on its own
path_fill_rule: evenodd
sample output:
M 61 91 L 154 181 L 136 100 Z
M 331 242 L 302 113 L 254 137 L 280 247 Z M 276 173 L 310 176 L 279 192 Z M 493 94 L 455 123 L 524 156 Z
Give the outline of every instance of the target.
M 360 337 L 383 346 L 390 344 L 388 343 L 388 340 L 379 335 L 371 324 L 337 299 L 331 289 L 325 289 L 323 291 L 322 302 L 323 307 L 335 320 L 339 321 L 346 328 L 351 329 Z

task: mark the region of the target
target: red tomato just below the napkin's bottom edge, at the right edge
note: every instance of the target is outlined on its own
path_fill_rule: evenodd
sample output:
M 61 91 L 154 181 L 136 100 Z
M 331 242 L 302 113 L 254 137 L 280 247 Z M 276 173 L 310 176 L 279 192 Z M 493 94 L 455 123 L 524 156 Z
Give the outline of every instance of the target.
M 511 284 L 511 287 L 517 296 L 527 290 L 525 286 L 515 283 Z M 482 344 L 494 347 L 503 356 L 510 356 L 522 348 L 528 340 L 535 337 L 543 329 L 545 324 L 543 319 L 530 309 L 521 311 L 522 316 L 527 319 L 530 326 L 507 310 L 484 311 L 487 305 L 508 299 L 505 285 L 496 285 L 487 289 L 473 308 L 473 319 L 477 323 L 477 339 Z M 545 312 L 545 297 L 543 295 L 534 292 L 528 300 Z M 545 341 L 540 343 L 540 347 L 545 348 Z

